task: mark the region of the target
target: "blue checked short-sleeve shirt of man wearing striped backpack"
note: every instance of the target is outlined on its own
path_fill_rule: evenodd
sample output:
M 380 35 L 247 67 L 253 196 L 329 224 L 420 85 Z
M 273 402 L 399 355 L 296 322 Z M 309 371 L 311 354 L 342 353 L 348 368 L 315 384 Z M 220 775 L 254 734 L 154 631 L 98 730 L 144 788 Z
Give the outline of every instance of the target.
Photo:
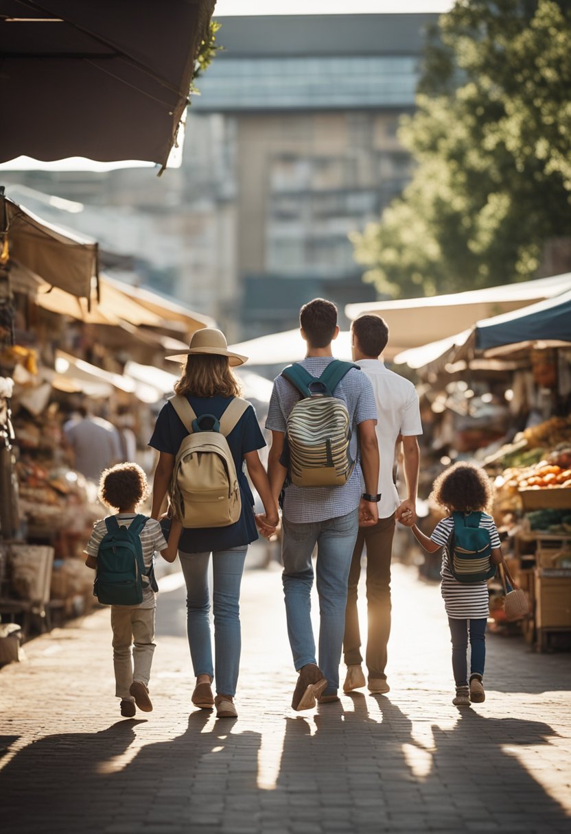
M 332 356 L 311 356 L 300 364 L 312 376 L 321 376 Z M 359 432 L 357 427 L 365 420 L 376 420 L 375 394 L 371 382 L 361 370 L 351 369 L 336 386 L 333 394 L 346 404 L 351 420 L 349 451 L 355 467 L 351 478 L 343 486 L 299 487 L 291 484 L 285 490 L 283 513 L 295 524 L 324 521 L 346 515 L 356 510 L 363 492 Z M 291 409 L 299 401 L 300 394 L 283 376 L 274 380 L 270 408 L 265 428 L 285 434 L 286 420 Z

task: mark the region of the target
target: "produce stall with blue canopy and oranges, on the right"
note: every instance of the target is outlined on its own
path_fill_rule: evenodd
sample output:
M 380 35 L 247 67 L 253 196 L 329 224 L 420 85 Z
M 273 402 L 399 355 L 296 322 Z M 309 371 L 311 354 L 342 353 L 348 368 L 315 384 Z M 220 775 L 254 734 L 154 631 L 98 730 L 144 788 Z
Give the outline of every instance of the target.
M 540 651 L 571 645 L 571 289 L 396 361 L 423 379 L 425 472 L 432 453 L 441 466 L 473 460 L 494 480 L 504 553 L 530 603 L 526 638 Z M 502 623 L 502 586 L 490 590 Z

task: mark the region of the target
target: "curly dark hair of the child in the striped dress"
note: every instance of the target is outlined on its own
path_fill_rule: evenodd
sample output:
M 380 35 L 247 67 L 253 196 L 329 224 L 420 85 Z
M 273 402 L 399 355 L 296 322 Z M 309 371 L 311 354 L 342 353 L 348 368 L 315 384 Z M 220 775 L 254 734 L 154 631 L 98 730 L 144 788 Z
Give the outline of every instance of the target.
M 484 512 L 492 505 L 493 489 L 483 470 L 472 464 L 457 463 L 438 475 L 430 498 L 445 510 Z

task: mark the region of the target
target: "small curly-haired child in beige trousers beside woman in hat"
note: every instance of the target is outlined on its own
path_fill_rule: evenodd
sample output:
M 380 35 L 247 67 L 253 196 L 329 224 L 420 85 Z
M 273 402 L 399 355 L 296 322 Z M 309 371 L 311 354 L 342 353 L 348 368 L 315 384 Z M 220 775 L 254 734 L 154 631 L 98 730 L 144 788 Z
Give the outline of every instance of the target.
M 121 699 L 121 715 L 132 718 L 135 705 L 139 710 L 150 712 L 153 704 L 149 698 L 149 677 L 154 654 L 154 614 L 156 608 L 156 585 L 154 584 L 153 565 L 154 554 L 164 552 L 167 543 L 158 521 L 137 515 L 137 507 L 148 494 L 147 477 L 137 464 L 127 463 L 105 470 L 99 484 L 99 498 L 108 507 L 118 510 L 116 515 L 96 521 L 93 532 L 85 548 L 87 559 L 85 564 L 98 571 L 97 581 L 108 582 L 105 588 L 109 598 L 104 601 L 118 600 L 119 604 L 111 605 L 111 627 L 113 629 L 113 662 L 115 671 L 115 695 Z M 114 586 L 114 565 L 109 564 L 107 575 L 100 569 L 99 557 L 103 561 L 109 558 L 116 560 L 124 558 L 121 553 L 123 547 L 127 557 L 133 543 L 125 545 L 119 542 L 121 528 L 133 525 L 140 540 L 141 555 L 144 561 L 143 571 L 136 569 L 137 578 L 140 577 L 142 588 L 139 592 L 140 602 L 133 605 L 121 604 L 121 594 L 118 585 Z M 116 535 L 117 539 L 109 553 L 104 550 L 106 541 Z M 124 537 L 124 540 L 126 537 Z M 100 547 L 102 552 L 100 554 Z M 113 552 L 114 551 L 114 552 Z M 132 559 L 136 558 L 132 556 Z M 127 558 L 129 566 L 129 558 Z M 124 576 L 122 577 L 124 579 Z M 124 582 L 122 583 L 125 584 Z M 103 589 L 102 589 L 103 590 Z M 100 596 L 101 599 L 101 596 Z

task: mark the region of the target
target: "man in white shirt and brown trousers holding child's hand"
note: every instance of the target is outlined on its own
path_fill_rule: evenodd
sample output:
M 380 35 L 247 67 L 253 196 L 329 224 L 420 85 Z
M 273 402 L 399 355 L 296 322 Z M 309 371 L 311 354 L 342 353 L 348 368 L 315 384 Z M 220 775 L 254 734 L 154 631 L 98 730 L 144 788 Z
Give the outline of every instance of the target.
M 366 546 L 366 603 L 368 631 L 366 638 L 367 683 L 371 693 L 386 694 L 387 643 L 391 634 L 391 559 L 395 520 L 406 514 L 416 518 L 418 467 L 420 453 L 417 436 L 422 423 L 417 391 L 408 379 L 385 367 L 380 359 L 387 347 L 388 327 L 380 316 L 363 315 L 351 324 L 353 359 L 371 380 L 376 401 L 376 439 L 381 455 L 379 484 L 381 494 L 379 520 L 371 527 L 361 527 L 349 572 L 349 589 L 343 640 L 347 675 L 343 690 L 351 692 L 365 686 L 361 669 L 361 634 L 357 614 L 357 586 L 361 575 L 361 556 Z M 393 480 L 395 446 L 402 438 L 404 477 L 407 498 L 399 498 Z

